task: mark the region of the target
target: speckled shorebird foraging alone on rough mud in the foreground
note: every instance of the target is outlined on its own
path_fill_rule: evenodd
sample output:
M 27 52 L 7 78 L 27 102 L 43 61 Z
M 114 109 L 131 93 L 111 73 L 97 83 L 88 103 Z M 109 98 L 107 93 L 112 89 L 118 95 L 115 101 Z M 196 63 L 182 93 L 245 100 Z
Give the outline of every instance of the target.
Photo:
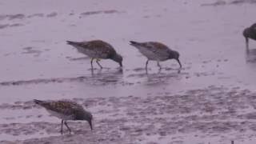
M 63 128 L 63 123 L 65 124 L 66 128 L 70 131 L 70 127 L 67 126 L 66 121 L 67 120 L 86 120 L 89 122 L 90 125 L 90 130 L 93 130 L 92 127 L 92 119 L 93 115 L 90 114 L 90 112 L 86 111 L 83 109 L 82 106 L 78 105 L 75 102 L 70 102 L 70 101 L 40 101 L 37 99 L 34 99 L 34 102 L 44 108 L 46 110 L 54 115 L 57 118 L 62 119 L 62 128 Z M 61 129 L 61 134 L 62 133 Z

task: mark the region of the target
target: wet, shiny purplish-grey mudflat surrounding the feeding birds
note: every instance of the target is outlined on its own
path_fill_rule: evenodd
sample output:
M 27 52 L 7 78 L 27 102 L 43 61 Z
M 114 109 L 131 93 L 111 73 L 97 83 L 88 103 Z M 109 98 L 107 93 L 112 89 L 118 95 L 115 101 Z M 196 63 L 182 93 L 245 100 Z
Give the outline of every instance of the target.
M 60 5 L 59 3 L 62 3 Z M 0 2 L 0 143 L 256 142 L 256 42 L 242 30 L 256 3 L 241 1 Z M 30 9 L 28 8 L 30 7 Z M 99 38 L 123 55 L 123 69 L 90 58 L 66 40 Z M 159 41 L 181 54 L 149 63 L 130 40 Z M 95 66 L 96 63 L 95 63 Z M 61 121 L 32 100 L 70 99 L 94 115 Z

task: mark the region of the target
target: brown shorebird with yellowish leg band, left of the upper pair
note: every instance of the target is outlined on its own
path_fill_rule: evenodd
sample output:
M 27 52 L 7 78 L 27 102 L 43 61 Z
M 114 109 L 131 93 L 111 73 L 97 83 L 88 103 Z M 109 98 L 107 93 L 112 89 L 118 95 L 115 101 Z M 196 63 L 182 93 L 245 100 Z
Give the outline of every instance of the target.
M 67 44 L 77 48 L 78 52 L 86 54 L 91 58 L 90 65 L 93 69 L 93 61 L 96 59 L 98 66 L 102 69 L 102 66 L 99 64 L 100 59 L 112 59 L 115 62 L 118 62 L 122 67 L 122 56 L 118 54 L 114 47 L 107 42 L 102 40 L 93 40 L 88 42 L 71 42 L 66 41 Z

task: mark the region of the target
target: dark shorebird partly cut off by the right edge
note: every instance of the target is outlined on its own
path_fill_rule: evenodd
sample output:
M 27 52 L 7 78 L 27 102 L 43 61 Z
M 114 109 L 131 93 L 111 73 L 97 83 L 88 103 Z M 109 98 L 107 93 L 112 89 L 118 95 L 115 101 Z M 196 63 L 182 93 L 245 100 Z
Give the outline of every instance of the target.
M 243 36 L 246 38 L 246 48 L 249 48 L 249 38 L 254 39 L 256 41 L 256 23 L 254 23 L 252 26 L 247 27 L 245 30 L 243 30 Z

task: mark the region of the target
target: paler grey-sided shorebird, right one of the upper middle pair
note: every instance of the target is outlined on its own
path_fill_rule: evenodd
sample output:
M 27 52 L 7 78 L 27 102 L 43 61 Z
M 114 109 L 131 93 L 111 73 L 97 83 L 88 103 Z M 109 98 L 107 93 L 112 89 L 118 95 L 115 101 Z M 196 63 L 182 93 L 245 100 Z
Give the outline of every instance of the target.
M 146 70 L 149 61 L 157 61 L 158 67 L 161 69 L 159 62 L 168 59 L 175 59 L 179 66 L 182 67 L 179 61 L 178 51 L 170 50 L 170 48 L 160 42 L 134 42 L 130 41 L 130 45 L 136 47 L 143 55 L 146 56 Z

